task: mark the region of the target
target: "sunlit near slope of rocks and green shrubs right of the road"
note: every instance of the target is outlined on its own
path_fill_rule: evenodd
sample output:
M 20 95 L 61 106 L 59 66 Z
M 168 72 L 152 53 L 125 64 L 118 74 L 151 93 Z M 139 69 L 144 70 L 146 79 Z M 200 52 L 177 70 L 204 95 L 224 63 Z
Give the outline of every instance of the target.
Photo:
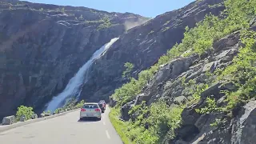
M 225 6 L 115 90 L 111 119 L 126 143 L 254 143 L 256 1 Z

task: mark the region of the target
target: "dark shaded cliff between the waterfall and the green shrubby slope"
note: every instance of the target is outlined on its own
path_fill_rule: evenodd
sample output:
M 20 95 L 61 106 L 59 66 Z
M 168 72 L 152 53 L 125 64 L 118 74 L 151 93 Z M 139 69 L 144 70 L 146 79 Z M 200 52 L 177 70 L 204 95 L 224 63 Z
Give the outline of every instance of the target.
M 166 50 L 182 41 L 185 27 L 194 27 L 206 14 L 218 15 L 225 7 L 222 0 L 192 2 L 179 10 L 158 15 L 141 26 L 122 34 L 110 50 L 94 63 L 90 80 L 83 86 L 82 98 L 90 101 L 108 97 L 126 82 L 122 78 L 124 63 L 134 64 L 134 77 L 154 62 Z

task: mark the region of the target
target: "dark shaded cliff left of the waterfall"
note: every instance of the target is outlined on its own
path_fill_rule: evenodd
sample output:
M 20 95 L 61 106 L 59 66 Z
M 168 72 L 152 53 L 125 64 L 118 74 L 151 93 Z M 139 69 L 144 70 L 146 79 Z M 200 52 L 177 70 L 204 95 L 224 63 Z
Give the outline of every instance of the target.
M 0 1 L 0 118 L 40 110 L 111 38 L 147 18 L 85 7 Z

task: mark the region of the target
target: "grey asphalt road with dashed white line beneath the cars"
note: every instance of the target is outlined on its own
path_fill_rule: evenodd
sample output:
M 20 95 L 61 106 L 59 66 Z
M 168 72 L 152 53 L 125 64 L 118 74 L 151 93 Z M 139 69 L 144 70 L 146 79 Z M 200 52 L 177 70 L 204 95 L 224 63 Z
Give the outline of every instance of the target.
M 79 110 L 0 133 L 2 144 L 122 144 L 108 114 L 101 121 L 79 121 Z

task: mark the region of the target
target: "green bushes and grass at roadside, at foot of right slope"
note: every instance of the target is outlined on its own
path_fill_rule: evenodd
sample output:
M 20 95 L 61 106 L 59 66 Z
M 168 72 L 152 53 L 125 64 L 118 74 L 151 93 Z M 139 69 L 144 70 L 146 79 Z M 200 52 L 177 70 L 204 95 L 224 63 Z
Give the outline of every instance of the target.
M 174 130 L 180 126 L 182 106 L 170 107 L 166 102 L 157 102 L 147 107 L 143 103 L 132 109 L 141 113 L 135 122 L 122 122 L 118 119 L 118 108 L 110 113 L 110 121 L 118 131 L 124 143 L 158 143 L 159 139 L 174 138 Z M 149 118 L 143 118 L 150 111 Z M 143 126 L 148 125 L 150 129 Z M 158 133 L 158 130 L 165 131 Z

